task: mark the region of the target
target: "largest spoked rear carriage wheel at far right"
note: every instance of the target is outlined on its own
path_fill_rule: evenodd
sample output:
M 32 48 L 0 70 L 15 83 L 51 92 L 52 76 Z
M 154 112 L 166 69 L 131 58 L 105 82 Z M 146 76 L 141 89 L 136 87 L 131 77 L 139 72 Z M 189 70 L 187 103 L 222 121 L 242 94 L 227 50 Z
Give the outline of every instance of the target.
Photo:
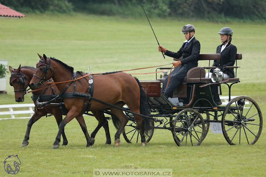
M 249 104 L 244 106 L 245 101 Z M 246 96 L 232 99 L 223 111 L 222 131 L 230 145 L 240 144 L 241 141 L 255 144 L 262 131 L 262 114 L 258 104 Z

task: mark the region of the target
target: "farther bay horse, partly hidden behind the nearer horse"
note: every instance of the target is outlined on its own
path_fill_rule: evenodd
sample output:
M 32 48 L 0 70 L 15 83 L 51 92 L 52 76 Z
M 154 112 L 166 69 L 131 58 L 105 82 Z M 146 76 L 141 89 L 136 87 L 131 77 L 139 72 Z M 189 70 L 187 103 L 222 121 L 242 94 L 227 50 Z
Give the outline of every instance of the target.
M 40 56 L 41 57 L 41 56 Z M 22 66 L 21 65 L 17 68 L 17 69 L 13 69 L 11 66 L 9 66 L 9 71 L 11 72 L 11 77 L 9 80 L 10 86 L 14 87 L 14 92 L 15 92 L 15 101 L 16 102 L 23 102 L 24 101 L 24 95 L 26 94 L 26 88 L 28 86 L 30 86 L 30 81 L 33 78 L 33 74 L 36 71 L 36 68 L 30 67 L 30 66 Z M 17 73 L 17 74 L 16 74 Z M 15 75 L 13 75 L 15 74 Z M 39 88 L 43 88 L 45 86 L 40 85 Z M 53 87 L 53 89 L 52 89 Z M 34 91 L 33 93 L 35 95 L 41 95 L 42 96 L 47 96 L 47 95 L 53 95 L 53 94 L 59 94 L 59 90 L 57 89 L 57 87 L 54 85 L 52 87 L 48 87 L 44 90 L 38 90 L 38 91 Z M 31 90 L 34 90 L 31 86 L 30 86 Z M 42 93 L 43 92 L 43 93 Z M 49 100 L 50 101 L 50 100 Z M 36 101 L 33 101 L 34 104 L 36 105 Z M 60 101 L 56 101 L 55 103 L 59 103 Z M 33 114 L 33 116 L 30 118 L 28 124 L 27 124 L 27 131 L 24 137 L 24 140 L 22 142 L 22 147 L 25 147 L 29 144 L 28 140 L 30 139 L 30 130 L 32 125 L 38 121 L 41 117 L 46 116 L 47 114 L 53 114 L 56 122 L 59 126 L 59 124 L 61 123 L 61 121 L 63 120 L 62 115 L 66 115 L 64 114 L 58 106 L 44 106 L 42 109 L 38 109 L 40 108 L 40 106 L 36 107 L 36 110 Z M 101 112 L 93 112 L 95 118 L 98 120 L 98 115 L 103 117 L 104 114 Z M 80 127 L 82 127 L 83 129 L 86 129 L 86 124 L 84 121 L 83 117 L 77 117 L 76 118 L 77 121 L 80 124 Z M 108 121 L 106 121 L 106 123 L 103 125 L 103 128 L 105 129 L 105 133 L 106 133 L 106 143 L 105 144 L 111 144 L 111 136 L 109 133 L 109 127 L 108 127 Z M 67 141 L 67 137 L 65 135 L 64 129 L 62 130 L 62 137 L 63 137 L 63 144 L 62 145 L 67 145 L 68 141 Z

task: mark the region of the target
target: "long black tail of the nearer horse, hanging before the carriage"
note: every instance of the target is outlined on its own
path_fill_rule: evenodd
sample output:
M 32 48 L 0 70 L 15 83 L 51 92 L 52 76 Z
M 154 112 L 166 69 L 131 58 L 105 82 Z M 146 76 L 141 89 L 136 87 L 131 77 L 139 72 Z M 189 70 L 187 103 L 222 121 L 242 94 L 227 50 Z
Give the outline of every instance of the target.
M 142 86 L 140 84 L 139 79 L 136 77 L 134 77 L 134 78 L 136 79 L 136 81 L 140 87 L 140 114 L 145 115 L 145 116 L 149 116 L 150 111 L 149 111 L 147 96 L 146 96 L 144 90 L 142 89 Z M 145 134 L 149 135 L 149 132 L 151 131 L 151 128 L 152 128 L 152 120 L 148 119 L 146 117 L 142 117 L 142 118 L 144 120 Z

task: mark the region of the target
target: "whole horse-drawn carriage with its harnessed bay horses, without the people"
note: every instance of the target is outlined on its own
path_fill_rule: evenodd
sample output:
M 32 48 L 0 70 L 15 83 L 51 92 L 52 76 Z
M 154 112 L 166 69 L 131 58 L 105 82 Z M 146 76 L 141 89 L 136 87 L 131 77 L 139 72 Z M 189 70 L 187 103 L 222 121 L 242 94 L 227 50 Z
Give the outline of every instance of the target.
M 200 55 L 200 60 L 218 59 L 220 59 L 220 54 Z M 236 61 L 241 59 L 242 55 L 237 54 Z M 65 124 L 74 117 L 80 122 L 87 140 L 87 146 L 94 143 L 94 137 L 102 126 L 106 130 L 106 144 L 110 144 L 111 140 L 110 134 L 108 135 L 109 130 L 107 131 L 108 123 L 106 125 L 106 119 L 111 118 L 106 118 L 103 113 L 111 115 L 118 129 L 115 135 L 116 146 L 120 143 L 119 137 L 121 133 L 126 142 L 141 141 L 141 144 L 145 145 L 152 138 L 154 129 L 170 130 L 178 146 L 197 146 L 206 137 L 210 125 L 212 125 L 214 131 L 222 132 L 230 145 L 240 144 L 243 141 L 248 144 L 254 144 L 262 131 L 262 113 L 259 106 L 254 100 L 246 96 L 231 99 L 231 86 L 239 83 L 239 78 L 226 78 L 224 80 L 215 77 L 205 78 L 205 69 L 211 68 L 213 67 L 210 67 L 209 62 L 208 67 L 190 69 L 184 81 L 176 88 L 173 97 L 170 99 L 161 95 L 161 85 L 165 75 L 159 79 L 157 79 L 156 75 L 156 79 L 152 81 L 138 81 L 137 78 L 133 79 L 132 76 L 123 72 L 101 73 L 92 77 L 88 73 L 86 75 L 81 72 L 73 72 L 72 67 L 59 60 L 49 59 L 45 55 L 43 57 L 40 56 L 40 62 L 37 64 L 37 69 L 33 75 L 35 77 L 32 78 L 31 76 L 32 79 L 27 79 L 27 85 L 22 72 L 13 73 L 13 75 L 19 78 L 17 83 L 24 84 L 22 89 L 15 91 L 22 92 L 22 94 L 25 94 L 23 92 L 26 91 L 27 86 L 31 86 L 33 89 L 38 88 L 40 83 L 44 83 L 51 77 L 54 79 L 53 83 L 58 84 L 56 86 L 60 94 L 55 94 L 53 91 L 54 94 L 51 101 L 47 101 L 47 96 L 43 102 L 41 102 L 42 99 L 40 97 L 35 98 L 36 110 L 44 106 L 59 106 L 60 109 L 65 106 L 67 109 L 64 109 L 64 111 L 69 110 L 68 113 L 64 113 L 67 114 L 64 120 L 62 121 L 62 117 L 60 117 L 61 123 L 58 121 L 59 132 L 53 148 L 59 147 L 61 133 L 64 133 Z M 227 68 L 239 67 L 231 66 Z M 171 68 L 157 69 L 169 70 Z M 10 71 L 13 72 L 14 70 Z M 18 70 L 15 71 L 17 72 Z M 108 82 L 110 80 L 112 82 Z M 15 83 L 14 80 L 12 83 Z M 102 88 L 102 83 L 105 83 L 104 86 L 108 89 Z M 134 83 L 134 86 L 132 83 Z M 226 84 L 229 90 L 229 102 L 226 106 L 215 104 L 210 89 L 210 85 L 215 85 L 221 91 L 221 84 Z M 93 86 L 97 89 L 93 90 Z M 147 100 L 145 100 L 146 98 Z M 63 99 L 64 102 L 62 102 Z M 23 101 L 24 97 L 21 100 Z M 59 101 L 60 103 L 53 103 L 54 101 Z M 248 103 L 249 107 L 245 106 L 245 103 Z M 128 107 L 123 107 L 125 104 Z M 149 110 L 149 112 L 145 109 Z M 88 111 L 93 112 L 93 114 L 89 114 Z M 99 121 L 91 137 L 88 135 L 82 114 L 93 115 Z M 25 145 L 28 144 L 30 127 L 40 117 L 32 118 L 33 120 L 29 121 L 27 136 L 25 135 L 25 140 L 23 141 Z M 119 118 L 119 121 L 117 118 Z M 150 119 L 150 121 L 147 122 L 147 119 Z M 128 123 L 128 120 L 130 120 L 130 123 Z M 149 126 L 146 126 L 144 122 L 146 122 L 146 125 L 149 124 Z M 22 146 L 25 146 L 23 143 Z M 67 140 L 63 145 L 66 144 Z

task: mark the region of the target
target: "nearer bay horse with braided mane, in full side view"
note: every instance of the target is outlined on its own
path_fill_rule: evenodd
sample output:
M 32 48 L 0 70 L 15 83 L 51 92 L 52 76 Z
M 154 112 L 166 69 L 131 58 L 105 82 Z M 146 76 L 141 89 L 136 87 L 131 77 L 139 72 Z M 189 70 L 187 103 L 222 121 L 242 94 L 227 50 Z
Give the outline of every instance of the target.
M 85 76 L 85 73 L 77 72 L 76 78 L 80 78 Z M 64 93 L 73 93 L 74 92 L 74 83 L 69 85 L 69 80 L 72 80 L 74 76 L 74 68 L 68 66 L 60 60 L 55 58 L 47 58 L 46 55 L 43 54 L 43 57 L 36 64 L 36 72 L 34 77 L 30 81 L 30 85 L 32 88 L 38 88 L 40 86 L 41 81 L 47 81 L 48 78 L 53 78 L 56 83 L 57 88 L 60 92 L 64 90 Z M 91 76 L 90 76 L 91 77 Z M 76 81 L 76 91 L 79 93 L 87 93 L 88 88 L 90 86 L 89 76 L 86 76 L 82 79 Z M 61 82 L 61 83 L 58 83 Z M 148 116 L 148 106 L 147 106 L 147 97 L 145 92 L 143 91 L 140 82 L 132 77 L 131 75 L 123 72 L 117 72 L 112 74 L 105 75 L 95 75 L 93 76 L 93 84 L 94 84 L 94 93 L 93 98 L 104 101 L 108 104 L 112 104 L 122 108 L 125 104 L 129 107 L 130 111 L 135 112 L 137 114 L 142 114 Z M 69 86 L 68 86 L 69 85 Z M 67 109 L 69 110 L 67 116 L 63 119 L 63 121 L 59 125 L 59 131 L 56 136 L 56 140 L 53 143 L 53 148 L 59 148 L 59 142 L 61 138 L 61 132 L 65 125 L 70 122 L 74 117 L 82 116 L 82 109 L 84 107 L 83 98 L 65 98 L 64 103 Z M 115 134 L 115 145 L 118 146 L 120 144 L 120 135 L 124 130 L 126 123 L 128 122 L 128 118 L 123 113 L 122 110 L 114 108 L 112 106 L 108 106 L 107 104 L 100 103 L 93 99 L 91 101 L 90 111 L 98 111 L 102 109 L 109 108 L 111 112 L 118 117 L 120 121 L 120 127 Z M 89 103 L 89 100 L 87 100 Z M 140 128 L 141 135 L 141 146 L 145 145 L 145 135 L 144 133 L 150 130 L 150 120 L 147 118 L 142 118 L 141 116 L 134 115 L 134 118 L 137 121 L 137 124 Z M 96 135 L 98 129 L 103 125 L 106 119 L 103 117 L 99 117 L 98 126 L 95 131 L 92 133 L 93 136 Z M 90 136 L 86 134 L 88 138 L 87 146 L 92 145 Z

